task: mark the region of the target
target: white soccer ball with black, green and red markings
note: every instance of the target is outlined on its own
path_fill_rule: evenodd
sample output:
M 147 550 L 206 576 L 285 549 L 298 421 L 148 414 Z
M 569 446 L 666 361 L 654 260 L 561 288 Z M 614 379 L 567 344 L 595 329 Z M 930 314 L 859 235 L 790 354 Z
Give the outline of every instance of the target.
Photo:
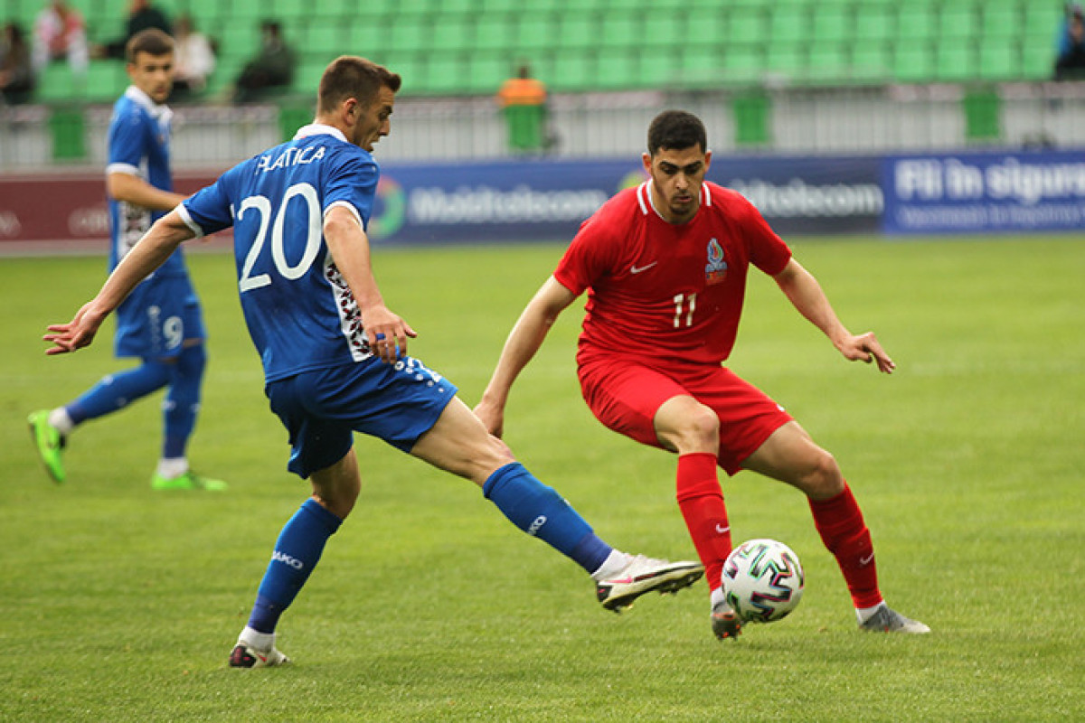
M 724 594 L 743 622 L 786 617 L 803 597 L 806 576 L 799 555 L 776 540 L 748 540 L 724 563 Z

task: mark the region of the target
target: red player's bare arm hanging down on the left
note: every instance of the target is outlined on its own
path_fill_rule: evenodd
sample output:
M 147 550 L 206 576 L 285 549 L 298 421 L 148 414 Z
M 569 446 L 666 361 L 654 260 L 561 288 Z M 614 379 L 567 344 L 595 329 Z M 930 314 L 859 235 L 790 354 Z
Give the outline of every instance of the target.
M 542 346 L 561 312 L 575 299 L 575 294 L 550 276 L 524 307 L 505 341 L 482 400 L 474 410 L 492 435 L 500 437 L 503 431 L 505 405 L 509 400 L 512 383 Z

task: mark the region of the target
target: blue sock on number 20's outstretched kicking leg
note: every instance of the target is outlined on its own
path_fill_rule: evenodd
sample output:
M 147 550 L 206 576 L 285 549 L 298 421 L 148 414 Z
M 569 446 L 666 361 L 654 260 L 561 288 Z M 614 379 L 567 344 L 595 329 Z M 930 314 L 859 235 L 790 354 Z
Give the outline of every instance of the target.
M 513 525 L 589 573 L 598 570 L 613 550 L 552 487 L 535 479 L 519 462 L 490 475 L 482 492 Z

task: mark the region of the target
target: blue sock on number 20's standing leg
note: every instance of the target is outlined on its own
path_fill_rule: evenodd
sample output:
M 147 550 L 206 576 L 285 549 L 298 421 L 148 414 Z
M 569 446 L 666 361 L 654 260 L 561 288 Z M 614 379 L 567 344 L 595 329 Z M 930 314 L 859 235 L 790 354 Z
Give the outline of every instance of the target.
M 256 593 L 256 603 L 248 618 L 248 627 L 261 633 L 273 633 L 282 615 L 309 573 L 320 560 L 328 538 L 335 533 L 343 520 L 320 506 L 316 500 L 306 500 L 279 533 L 275 553 Z

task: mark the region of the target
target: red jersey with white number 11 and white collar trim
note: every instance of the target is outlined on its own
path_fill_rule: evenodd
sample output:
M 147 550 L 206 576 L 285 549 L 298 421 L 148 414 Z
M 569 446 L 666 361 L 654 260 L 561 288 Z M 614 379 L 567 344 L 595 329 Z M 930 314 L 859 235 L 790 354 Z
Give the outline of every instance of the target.
M 705 181 L 697 215 L 668 223 L 649 184 L 603 204 L 554 271 L 569 291 L 588 292 L 577 361 L 616 353 L 720 364 L 735 346 L 749 266 L 776 275 L 791 249 L 735 191 Z

